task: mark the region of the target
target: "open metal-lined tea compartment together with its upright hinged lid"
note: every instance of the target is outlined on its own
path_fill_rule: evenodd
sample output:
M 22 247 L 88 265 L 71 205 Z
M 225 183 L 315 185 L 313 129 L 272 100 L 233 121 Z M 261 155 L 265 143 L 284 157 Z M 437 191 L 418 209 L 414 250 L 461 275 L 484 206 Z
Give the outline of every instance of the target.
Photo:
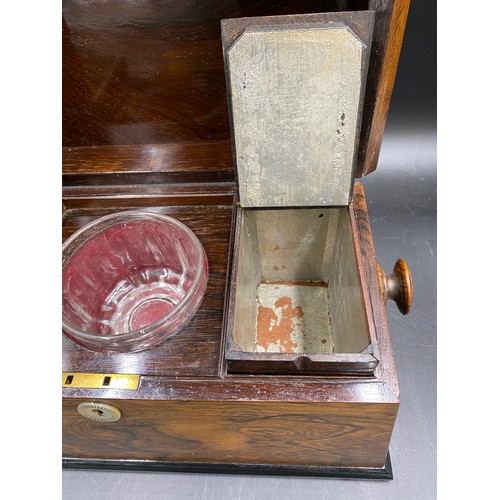
M 243 21 L 223 22 L 240 202 L 228 370 L 373 373 L 348 209 L 373 13 Z

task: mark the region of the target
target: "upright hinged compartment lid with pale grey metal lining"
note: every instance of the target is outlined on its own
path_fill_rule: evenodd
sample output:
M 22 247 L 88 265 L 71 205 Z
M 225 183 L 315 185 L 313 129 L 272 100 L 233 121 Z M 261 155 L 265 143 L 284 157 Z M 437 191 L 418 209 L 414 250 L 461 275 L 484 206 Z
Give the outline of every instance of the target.
M 312 19 L 223 21 L 243 207 L 349 203 L 373 12 Z

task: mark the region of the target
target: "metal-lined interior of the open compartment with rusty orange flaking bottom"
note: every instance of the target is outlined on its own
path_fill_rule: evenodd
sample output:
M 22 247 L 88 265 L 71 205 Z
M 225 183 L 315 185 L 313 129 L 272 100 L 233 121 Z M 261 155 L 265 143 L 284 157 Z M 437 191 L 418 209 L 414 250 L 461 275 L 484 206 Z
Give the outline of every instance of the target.
M 348 216 L 345 208 L 242 211 L 233 332 L 241 350 L 368 347 Z

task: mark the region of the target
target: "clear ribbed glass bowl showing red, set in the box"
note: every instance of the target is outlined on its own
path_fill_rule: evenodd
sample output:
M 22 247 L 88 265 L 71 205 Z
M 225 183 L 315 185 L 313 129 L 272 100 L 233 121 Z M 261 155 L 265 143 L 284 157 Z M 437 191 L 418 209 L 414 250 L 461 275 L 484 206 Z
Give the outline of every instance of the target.
M 207 285 L 198 238 L 164 215 L 101 217 L 68 238 L 62 255 L 63 332 L 94 351 L 141 351 L 171 337 Z

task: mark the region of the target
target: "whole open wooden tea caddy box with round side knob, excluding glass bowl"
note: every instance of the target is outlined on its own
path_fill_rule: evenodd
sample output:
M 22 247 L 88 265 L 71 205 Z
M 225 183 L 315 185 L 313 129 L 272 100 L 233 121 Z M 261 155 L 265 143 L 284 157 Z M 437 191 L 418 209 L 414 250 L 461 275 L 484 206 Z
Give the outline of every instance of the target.
M 353 178 L 376 168 L 408 2 L 198 3 L 63 4 L 63 239 L 154 211 L 210 270 L 154 349 L 63 337 L 63 465 L 392 478 L 385 302 L 407 313 L 411 276 L 378 266 Z

